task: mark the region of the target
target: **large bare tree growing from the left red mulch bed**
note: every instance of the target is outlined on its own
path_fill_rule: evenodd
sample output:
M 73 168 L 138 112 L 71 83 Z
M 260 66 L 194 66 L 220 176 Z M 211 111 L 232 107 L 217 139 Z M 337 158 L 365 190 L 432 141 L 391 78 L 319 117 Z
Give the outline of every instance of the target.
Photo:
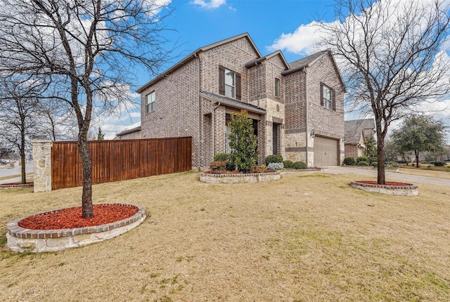
M 96 106 L 128 100 L 138 63 L 150 72 L 168 60 L 160 0 L 3 0 L 0 72 L 45 75 L 68 88 L 61 98 L 75 111 L 83 167 L 82 213 L 93 216 L 92 164 L 87 147 Z M 162 11 L 163 10 L 163 11 Z M 115 100 L 114 102 L 110 100 Z

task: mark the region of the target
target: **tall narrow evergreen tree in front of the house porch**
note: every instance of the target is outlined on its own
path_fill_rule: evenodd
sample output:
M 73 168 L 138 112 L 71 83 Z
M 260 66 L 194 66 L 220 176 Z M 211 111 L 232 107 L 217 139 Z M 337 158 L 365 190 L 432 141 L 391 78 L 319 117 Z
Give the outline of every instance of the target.
M 257 136 L 252 124 L 247 111 L 231 113 L 230 147 L 236 150 L 231 154 L 231 162 L 241 172 L 248 172 L 257 164 Z

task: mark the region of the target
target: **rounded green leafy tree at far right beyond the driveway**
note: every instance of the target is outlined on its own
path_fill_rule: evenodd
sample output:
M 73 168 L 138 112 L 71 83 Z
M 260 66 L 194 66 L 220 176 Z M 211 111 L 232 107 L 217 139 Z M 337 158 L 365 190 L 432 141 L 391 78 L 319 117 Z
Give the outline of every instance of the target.
M 444 125 L 428 116 L 411 117 L 392 133 L 392 140 L 400 152 L 414 151 L 416 167 L 419 166 L 420 152 L 444 151 L 444 139 Z

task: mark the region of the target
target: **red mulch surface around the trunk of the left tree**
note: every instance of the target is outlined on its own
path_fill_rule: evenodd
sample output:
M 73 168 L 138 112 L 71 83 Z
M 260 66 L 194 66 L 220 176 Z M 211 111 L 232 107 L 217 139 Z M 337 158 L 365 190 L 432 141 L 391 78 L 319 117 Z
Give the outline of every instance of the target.
M 58 230 L 64 228 L 82 228 L 114 223 L 129 218 L 139 209 L 136 206 L 122 204 L 94 204 L 94 217 L 86 219 L 82 216 L 82 207 L 61 209 L 40 215 L 29 216 L 19 221 L 21 228 L 30 230 Z

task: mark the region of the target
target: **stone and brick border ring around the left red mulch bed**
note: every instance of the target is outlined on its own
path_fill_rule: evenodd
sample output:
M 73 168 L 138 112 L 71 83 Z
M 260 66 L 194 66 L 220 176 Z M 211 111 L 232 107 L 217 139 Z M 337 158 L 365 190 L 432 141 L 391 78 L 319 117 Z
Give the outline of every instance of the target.
M 23 253 L 41 253 L 43 251 L 60 251 L 71 247 L 83 247 L 87 244 L 101 242 L 122 235 L 140 225 L 146 218 L 146 210 L 137 204 L 123 204 L 124 206 L 136 206 L 138 212 L 133 216 L 108 223 L 84 228 L 60 229 L 60 230 L 30 230 L 20 228 L 18 218 L 6 225 L 6 239 L 8 248 Z M 58 210 L 53 210 L 58 211 Z M 46 211 L 39 214 L 49 213 Z M 39 215 L 35 214 L 35 215 Z

